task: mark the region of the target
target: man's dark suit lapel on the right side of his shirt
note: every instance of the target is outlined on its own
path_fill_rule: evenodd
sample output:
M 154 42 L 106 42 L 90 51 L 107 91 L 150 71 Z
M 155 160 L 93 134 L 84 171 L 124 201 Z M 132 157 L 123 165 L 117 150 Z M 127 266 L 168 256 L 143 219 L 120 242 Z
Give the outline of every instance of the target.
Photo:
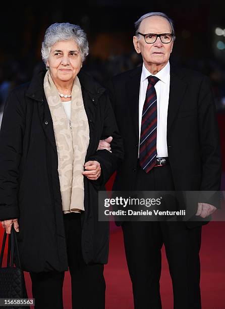
M 167 131 L 170 130 L 178 109 L 181 105 L 182 99 L 186 91 L 187 84 L 181 79 L 178 74 L 175 73 L 174 69 L 171 69 L 171 80 L 170 80 L 170 96 L 168 102 L 168 113 L 167 113 Z

